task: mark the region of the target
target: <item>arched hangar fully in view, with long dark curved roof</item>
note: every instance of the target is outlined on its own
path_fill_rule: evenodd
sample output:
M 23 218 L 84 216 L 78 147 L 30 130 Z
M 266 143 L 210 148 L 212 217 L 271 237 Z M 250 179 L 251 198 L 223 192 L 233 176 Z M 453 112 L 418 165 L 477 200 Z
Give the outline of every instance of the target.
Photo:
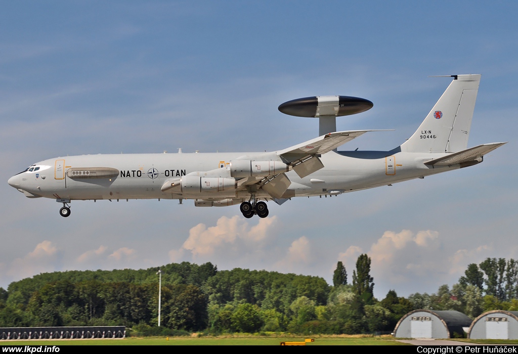
M 458 311 L 417 309 L 401 317 L 394 329 L 399 338 L 453 338 L 462 336 L 471 319 Z

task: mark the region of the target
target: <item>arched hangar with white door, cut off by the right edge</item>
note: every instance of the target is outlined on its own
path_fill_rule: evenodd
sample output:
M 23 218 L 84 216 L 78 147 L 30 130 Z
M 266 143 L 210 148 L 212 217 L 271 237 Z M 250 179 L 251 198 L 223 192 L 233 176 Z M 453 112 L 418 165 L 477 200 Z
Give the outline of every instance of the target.
M 493 310 L 471 323 L 468 338 L 518 339 L 518 311 Z

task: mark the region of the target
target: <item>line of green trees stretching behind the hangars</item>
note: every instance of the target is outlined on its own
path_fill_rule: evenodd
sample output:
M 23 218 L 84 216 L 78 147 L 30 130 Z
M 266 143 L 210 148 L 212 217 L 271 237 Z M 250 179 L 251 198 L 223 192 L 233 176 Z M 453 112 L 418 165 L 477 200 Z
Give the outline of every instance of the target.
M 518 310 L 513 259 L 469 264 L 452 289 L 384 299 L 373 296 L 371 260 L 362 254 L 351 282 L 337 263 L 333 286 L 321 277 L 209 263 L 171 263 L 162 275 L 162 328 L 184 331 L 293 333 L 392 332 L 413 309 L 454 309 L 476 317 L 490 309 Z M 157 326 L 159 268 L 67 271 L 36 275 L 0 288 L 0 327 Z

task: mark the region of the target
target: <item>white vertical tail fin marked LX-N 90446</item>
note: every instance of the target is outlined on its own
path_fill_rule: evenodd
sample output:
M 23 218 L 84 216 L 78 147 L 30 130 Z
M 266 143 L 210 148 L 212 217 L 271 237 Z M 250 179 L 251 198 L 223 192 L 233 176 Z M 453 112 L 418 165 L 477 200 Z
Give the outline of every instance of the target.
M 454 75 L 419 129 L 401 145 L 401 151 L 453 153 L 468 146 L 480 75 Z

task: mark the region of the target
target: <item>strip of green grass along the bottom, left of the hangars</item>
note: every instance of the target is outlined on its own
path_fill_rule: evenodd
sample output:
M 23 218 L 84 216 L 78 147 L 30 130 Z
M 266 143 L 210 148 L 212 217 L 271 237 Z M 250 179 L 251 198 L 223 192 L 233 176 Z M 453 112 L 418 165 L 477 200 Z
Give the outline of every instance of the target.
M 313 337 L 312 345 L 406 345 L 385 337 L 359 336 L 322 336 Z M 130 337 L 124 339 L 95 340 L 30 340 L 0 341 L 3 345 L 280 345 L 281 342 L 304 342 L 305 337 L 258 337 L 258 336 L 219 336 L 219 337 Z

